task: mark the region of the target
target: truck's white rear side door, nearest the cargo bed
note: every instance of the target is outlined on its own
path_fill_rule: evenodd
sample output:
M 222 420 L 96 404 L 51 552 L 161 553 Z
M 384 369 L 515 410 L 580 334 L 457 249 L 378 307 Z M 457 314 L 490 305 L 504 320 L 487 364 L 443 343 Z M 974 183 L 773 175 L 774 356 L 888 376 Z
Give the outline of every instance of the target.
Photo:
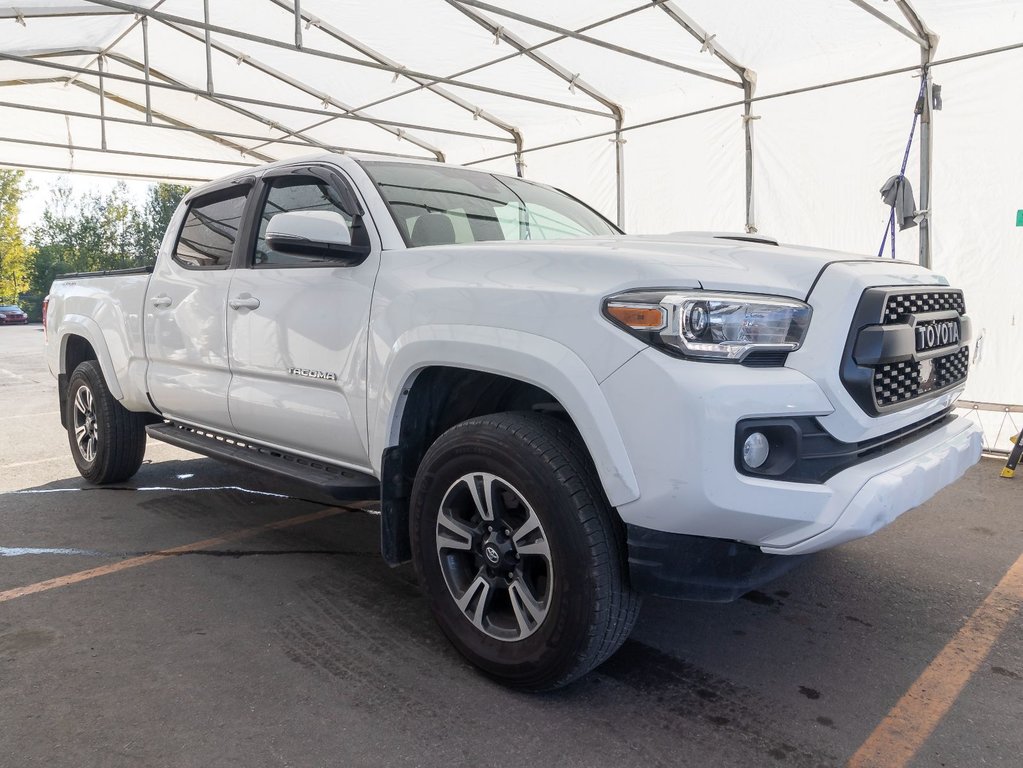
M 227 288 L 252 187 L 248 179 L 192 199 L 149 280 L 146 383 L 157 407 L 179 421 L 231 430 Z

